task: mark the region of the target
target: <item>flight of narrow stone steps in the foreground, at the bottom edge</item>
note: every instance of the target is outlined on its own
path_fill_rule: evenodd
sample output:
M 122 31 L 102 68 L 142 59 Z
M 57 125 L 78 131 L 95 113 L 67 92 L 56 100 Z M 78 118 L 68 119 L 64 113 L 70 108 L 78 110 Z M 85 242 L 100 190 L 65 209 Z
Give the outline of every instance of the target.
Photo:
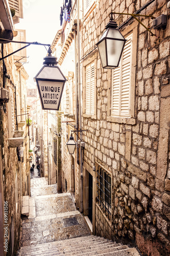
M 104 255 L 104 256 L 139 256 L 136 248 L 112 242 L 96 236 L 77 237 L 51 243 L 24 246 L 20 248 L 18 256 L 45 255 Z

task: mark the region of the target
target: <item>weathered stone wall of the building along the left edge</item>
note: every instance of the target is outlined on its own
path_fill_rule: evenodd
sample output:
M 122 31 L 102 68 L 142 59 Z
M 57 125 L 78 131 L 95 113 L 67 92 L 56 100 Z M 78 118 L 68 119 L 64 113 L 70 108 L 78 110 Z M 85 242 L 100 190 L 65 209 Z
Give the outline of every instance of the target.
M 0 45 L 1 46 L 1 45 Z M 13 52 L 13 48 L 11 44 L 4 45 L 4 56 L 8 53 Z M 0 54 L 2 57 L 2 54 Z M 6 80 L 7 84 L 11 84 L 10 80 L 13 84 L 15 84 L 16 88 L 19 87 L 17 82 L 18 72 L 16 72 L 16 66 L 14 65 L 13 56 L 5 59 L 7 74 L 10 75 L 10 79 Z M 3 87 L 3 61 L 0 61 L 0 85 Z M 13 87 L 13 85 L 11 84 Z M 9 138 L 9 122 L 8 122 L 8 114 L 9 108 L 8 103 L 6 103 L 7 112 L 1 108 L 0 116 L 1 116 L 1 129 L 0 129 L 0 138 L 1 138 L 1 152 L 2 155 L 2 166 L 3 166 L 3 190 L 4 190 L 4 198 L 2 198 L 3 208 L 4 202 L 8 202 L 8 252 L 6 255 L 12 255 L 12 245 L 13 245 L 13 253 L 16 253 L 19 243 L 20 236 L 20 169 L 19 169 L 19 161 L 17 156 L 16 148 L 8 147 L 8 138 Z M 5 224 L 5 223 L 4 223 Z M 11 230 L 11 234 L 10 234 Z M 3 231 L 2 231 L 3 232 Z M 5 241 L 4 241 L 5 242 Z

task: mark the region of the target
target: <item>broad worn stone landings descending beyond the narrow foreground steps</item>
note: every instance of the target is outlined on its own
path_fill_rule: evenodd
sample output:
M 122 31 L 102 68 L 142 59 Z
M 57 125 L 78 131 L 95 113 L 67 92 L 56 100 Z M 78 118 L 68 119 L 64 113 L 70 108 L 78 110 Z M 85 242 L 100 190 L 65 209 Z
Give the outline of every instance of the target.
M 84 219 L 70 193 L 57 194 L 57 185 L 47 185 L 47 179 L 39 178 L 37 169 L 31 179 L 29 217 L 22 218 L 20 246 L 88 236 Z

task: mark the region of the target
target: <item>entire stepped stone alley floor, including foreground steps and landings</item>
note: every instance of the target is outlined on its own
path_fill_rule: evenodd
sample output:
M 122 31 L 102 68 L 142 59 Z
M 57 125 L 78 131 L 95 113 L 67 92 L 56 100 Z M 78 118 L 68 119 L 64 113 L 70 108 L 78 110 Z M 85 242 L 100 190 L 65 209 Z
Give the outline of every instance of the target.
M 22 218 L 21 255 L 134 255 L 135 248 L 92 236 L 76 209 L 71 193 L 57 194 L 57 186 L 34 170 L 29 216 Z

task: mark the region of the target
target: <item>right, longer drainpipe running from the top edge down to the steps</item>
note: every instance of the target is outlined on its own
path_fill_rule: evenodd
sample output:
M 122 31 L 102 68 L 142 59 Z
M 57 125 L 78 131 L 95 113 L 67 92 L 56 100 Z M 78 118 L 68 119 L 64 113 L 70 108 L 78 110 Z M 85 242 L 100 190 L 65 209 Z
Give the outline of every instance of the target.
M 77 7 L 77 36 L 78 36 L 78 88 L 79 88 L 79 129 L 82 129 L 81 112 L 81 78 L 80 78 L 80 0 Z M 80 139 L 82 135 L 80 134 Z M 83 212 L 83 165 L 82 165 L 82 147 L 80 146 L 80 212 Z

